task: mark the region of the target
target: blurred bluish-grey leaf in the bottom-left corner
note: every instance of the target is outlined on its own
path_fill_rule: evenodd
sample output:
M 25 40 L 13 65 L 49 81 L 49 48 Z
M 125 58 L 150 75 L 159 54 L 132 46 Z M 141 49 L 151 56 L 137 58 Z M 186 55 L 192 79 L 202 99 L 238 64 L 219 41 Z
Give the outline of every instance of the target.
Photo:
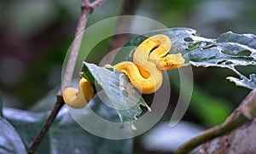
M 3 117 L 0 117 L 0 153 L 26 153 L 20 135 Z

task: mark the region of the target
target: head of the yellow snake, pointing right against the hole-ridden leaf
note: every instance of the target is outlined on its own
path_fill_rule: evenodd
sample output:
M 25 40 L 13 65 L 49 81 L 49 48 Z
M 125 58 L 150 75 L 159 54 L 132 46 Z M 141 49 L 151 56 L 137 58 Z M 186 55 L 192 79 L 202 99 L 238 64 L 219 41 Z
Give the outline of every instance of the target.
M 156 61 L 156 66 L 160 70 L 173 70 L 184 65 L 185 60 L 182 54 L 167 54 L 166 57 L 160 58 Z

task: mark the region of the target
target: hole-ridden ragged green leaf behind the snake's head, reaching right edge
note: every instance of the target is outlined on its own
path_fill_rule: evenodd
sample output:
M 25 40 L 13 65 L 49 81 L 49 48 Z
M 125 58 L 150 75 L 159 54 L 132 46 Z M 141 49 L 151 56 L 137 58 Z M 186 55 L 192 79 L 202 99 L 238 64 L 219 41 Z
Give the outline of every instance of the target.
M 217 39 L 200 37 L 198 31 L 189 28 L 171 28 L 151 31 L 131 38 L 124 48 L 119 50 L 113 64 L 120 61 L 132 61 L 132 56 L 137 46 L 147 37 L 155 34 L 164 34 L 170 37 L 172 48 L 170 54 L 181 53 L 186 59 L 185 64 L 192 66 L 225 67 L 240 77 L 228 77 L 236 85 L 246 88 L 256 88 L 255 75 L 250 79 L 236 70 L 236 66 L 256 66 L 256 36 L 253 34 L 236 34 L 226 32 Z

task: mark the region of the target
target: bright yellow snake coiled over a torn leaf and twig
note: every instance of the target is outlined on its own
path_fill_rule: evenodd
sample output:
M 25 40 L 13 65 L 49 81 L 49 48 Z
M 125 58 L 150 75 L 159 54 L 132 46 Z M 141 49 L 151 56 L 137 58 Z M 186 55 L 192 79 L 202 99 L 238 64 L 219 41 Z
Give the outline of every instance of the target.
M 176 69 L 184 64 L 182 54 L 168 54 L 171 48 L 169 37 L 154 35 L 137 47 L 133 62 L 123 61 L 111 67 L 124 72 L 131 84 L 143 94 L 152 94 L 163 82 L 162 70 Z M 65 103 L 73 108 L 83 108 L 93 96 L 94 88 L 83 77 L 79 82 L 79 89 L 65 88 L 63 91 Z

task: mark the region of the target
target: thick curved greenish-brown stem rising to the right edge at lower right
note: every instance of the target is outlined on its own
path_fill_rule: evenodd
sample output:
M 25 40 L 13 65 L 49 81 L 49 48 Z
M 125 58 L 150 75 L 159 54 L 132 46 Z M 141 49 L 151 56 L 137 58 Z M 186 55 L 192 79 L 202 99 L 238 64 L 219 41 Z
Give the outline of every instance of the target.
M 209 128 L 194 138 L 186 141 L 177 149 L 176 154 L 189 153 L 197 146 L 207 142 L 208 140 L 230 133 L 236 128 L 241 127 L 241 125 L 252 120 L 253 117 L 256 116 L 256 88 L 254 88 L 253 91 L 247 95 L 247 98 L 241 102 L 241 108 L 239 107 L 236 112 L 237 115 L 233 115 L 233 119 L 229 118 L 229 121 L 224 124 L 214 128 Z

